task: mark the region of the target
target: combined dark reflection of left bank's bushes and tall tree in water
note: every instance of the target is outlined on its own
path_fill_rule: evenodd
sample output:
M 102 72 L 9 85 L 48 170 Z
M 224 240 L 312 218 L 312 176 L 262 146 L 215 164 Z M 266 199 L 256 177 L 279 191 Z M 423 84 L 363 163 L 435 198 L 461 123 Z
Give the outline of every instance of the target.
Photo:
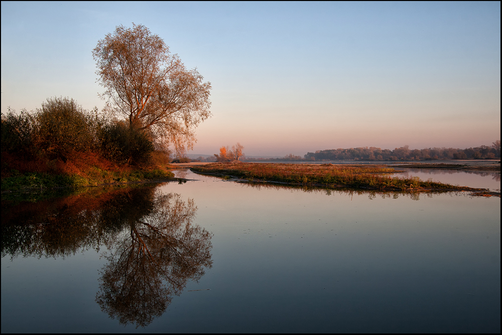
M 146 326 L 188 280 L 210 268 L 211 237 L 197 207 L 155 187 L 58 201 L 2 204 L 2 257 L 68 257 L 106 246 L 96 302 L 121 324 Z

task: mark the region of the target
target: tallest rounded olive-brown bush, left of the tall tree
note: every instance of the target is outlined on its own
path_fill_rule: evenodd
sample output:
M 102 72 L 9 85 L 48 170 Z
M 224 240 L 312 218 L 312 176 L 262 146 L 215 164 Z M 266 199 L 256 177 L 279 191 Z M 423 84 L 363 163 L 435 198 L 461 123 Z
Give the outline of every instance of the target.
M 73 99 L 50 98 L 38 111 L 38 144 L 49 157 L 66 160 L 93 144 L 88 116 Z

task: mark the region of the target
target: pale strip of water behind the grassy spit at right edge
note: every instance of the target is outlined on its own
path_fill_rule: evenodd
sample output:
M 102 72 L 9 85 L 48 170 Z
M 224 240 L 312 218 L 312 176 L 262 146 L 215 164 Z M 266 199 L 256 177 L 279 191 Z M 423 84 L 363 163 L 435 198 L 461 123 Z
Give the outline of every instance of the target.
M 500 173 L 462 171 L 462 170 L 439 170 L 439 169 L 411 169 L 395 168 L 396 170 L 406 171 L 396 174 L 402 177 L 419 177 L 426 181 L 431 178 L 433 181 L 441 183 L 468 186 L 472 188 L 482 188 L 490 190 L 500 190 Z

